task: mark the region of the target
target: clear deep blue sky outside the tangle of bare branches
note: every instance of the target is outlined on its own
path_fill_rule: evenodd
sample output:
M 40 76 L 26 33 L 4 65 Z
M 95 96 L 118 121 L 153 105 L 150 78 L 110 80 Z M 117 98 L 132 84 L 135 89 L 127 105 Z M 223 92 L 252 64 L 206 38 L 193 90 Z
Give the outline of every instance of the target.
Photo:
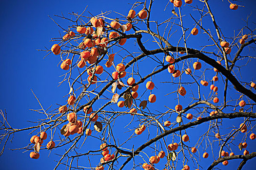
M 201 4 L 201 2 L 198 2 L 197 0 L 194 1 L 194 6 L 196 3 Z M 213 1 L 215 1 L 216 4 L 213 4 Z M 87 5 L 88 11 L 90 11 L 90 13 L 93 15 L 97 15 L 101 11 L 105 12 L 109 10 L 117 11 L 118 13 L 121 13 L 123 15 L 127 15 L 128 11 L 131 8 L 131 5 L 127 4 L 128 2 L 133 3 L 134 0 L 0 1 L 0 109 L 6 109 L 8 121 L 13 128 L 24 128 L 27 126 L 32 126 L 33 123 L 30 123 L 28 121 L 34 121 L 36 119 L 42 118 L 42 115 L 38 115 L 38 113 L 29 110 L 40 108 L 37 100 L 31 92 L 31 89 L 37 95 L 39 101 L 45 109 L 52 105 L 52 108 L 50 108 L 50 110 L 53 110 L 54 108 L 57 108 L 57 103 L 63 104 L 67 100 L 66 98 L 62 98 L 62 96 L 65 96 L 69 91 L 67 84 L 57 87 L 59 81 L 61 80 L 59 76 L 64 73 L 63 70 L 57 67 L 60 60 L 59 56 L 50 54 L 45 59 L 43 59 L 46 53 L 42 51 L 37 51 L 37 49 L 44 49 L 44 47 L 48 49 L 51 48 L 54 43 L 49 42 L 49 40 L 53 37 L 60 37 L 59 31 L 61 30 L 48 17 L 48 15 L 50 17 L 53 17 L 53 15 L 61 15 L 61 13 L 63 13 L 63 15 L 68 17 L 68 13 L 81 13 Z M 246 17 L 249 15 L 251 15 L 251 17 L 249 18 L 249 26 L 255 29 L 255 24 L 252 24 L 252 22 L 256 20 L 254 0 L 242 1 L 241 4 L 246 6 L 246 8 L 239 7 L 236 11 L 232 11 L 229 9 L 229 2 L 226 0 L 224 0 L 224 2 L 222 2 L 222 0 L 210 0 L 209 3 L 210 5 L 212 5 L 211 8 L 216 16 L 217 24 L 221 27 L 222 32 L 225 34 L 226 37 L 234 36 L 234 34 L 236 35 L 238 33 L 238 30 L 245 26 L 245 22 L 242 21 L 242 19 L 246 20 Z M 166 0 L 155 1 L 154 9 L 157 10 L 153 11 L 153 19 L 159 18 L 160 20 L 161 16 L 172 16 L 172 14 L 163 11 L 166 4 Z M 171 5 L 172 4 L 169 4 L 167 6 L 167 10 L 169 10 L 169 12 L 173 8 Z M 192 28 L 193 22 L 188 15 L 189 10 L 192 10 L 192 8 L 186 6 L 182 7 L 182 10 L 183 9 L 184 13 L 187 15 L 184 20 L 188 21 L 188 24 L 185 24 L 185 27 Z M 137 12 L 138 11 L 139 9 L 137 10 Z M 87 11 L 85 12 L 85 15 L 90 16 Z M 68 21 L 63 21 L 59 18 L 56 19 L 59 23 L 62 24 L 61 26 L 63 26 L 64 28 L 67 28 L 67 26 L 70 24 Z M 207 21 L 204 22 L 207 24 Z M 212 26 L 211 23 L 208 23 L 208 25 Z M 180 32 L 180 30 L 178 32 Z M 61 33 L 61 35 L 63 36 L 63 33 Z M 179 38 L 178 35 L 174 35 L 174 37 L 176 37 L 176 40 L 177 38 Z M 208 43 L 208 38 L 200 39 L 203 37 L 207 36 L 200 35 L 196 39 L 193 39 L 193 41 L 189 40 L 190 45 L 188 47 L 200 49 L 199 46 L 201 44 Z M 176 40 L 173 45 L 177 44 Z M 151 50 L 150 46 L 149 49 Z M 253 56 L 254 54 L 255 51 L 253 51 L 253 49 L 251 49 L 251 51 L 248 51 L 247 49 L 243 53 L 243 55 L 251 56 Z M 250 62 L 249 67 L 246 70 L 241 71 L 242 81 L 250 82 L 253 79 L 255 80 L 255 64 L 255 62 Z M 203 64 L 203 68 L 204 67 L 205 65 Z M 146 67 L 144 66 L 144 68 Z M 210 78 L 211 76 L 208 78 L 208 80 L 210 80 Z M 164 81 L 162 79 L 160 80 L 156 78 L 156 81 L 157 80 L 161 82 Z M 158 87 L 161 87 L 161 85 L 158 85 Z M 219 90 L 221 90 L 221 87 L 219 87 Z M 188 91 L 189 90 L 187 90 L 187 92 Z M 166 91 L 163 91 L 162 88 L 158 88 L 158 94 L 159 96 L 166 94 Z M 239 96 L 239 94 L 234 95 Z M 184 102 L 185 100 L 186 99 L 182 99 L 182 101 Z M 166 101 L 164 101 L 164 99 L 159 99 L 158 102 L 160 103 Z M 172 105 L 175 106 L 176 104 L 177 103 L 175 102 Z M 227 112 L 231 111 L 228 110 Z M 121 120 L 124 119 L 120 119 L 120 121 Z M 237 126 L 240 121 L 236 122 L 233 120 L 229 120 L 225 122 L 229 122 L 230 126 L 232 124 L 235 124 Z M 193 129 L 190 129 L 187 132 L 193 133 Z M 54 153 L 63 153 L 61 149 L 54 150 L 51 154 L 49 154 L 48 151 L 42 151 L 38 160 L 30 159 L 30 152 L 22 153 L 24 152 L 24 150 L 9 150 L 10 148 L 22 148 L 26 146 L 29 143 L 30 137 L 32 136 L 28 133 L 30 133 L 30 131 L 17 133 L 14 136 L 12 143 L 8 142 L 3 155 L 0 157 L 1 170 L 35 170 L 35 168 L 37 170 L 50 170 L 55 167 L 56 162 L 54 162 L 53 159 L 58 160 L 58 156 L 55 156 Z M 139 144 L 142 144 L 143 142 L 145 142 L 145 139 L 141 136 L 138 136 L 138 141 L 141 141 L 141 143 Z M 191 139 L 190 146 L 193 145 L 193 141 L 194 140 Z M 248 141 L 248 145 L 248 150 L 250 152 L 255 152 L 255 141 Z M 2 143 L 0 144 L 0 146 L 2 146 Z M 135 146 L 135 148 L 137 148 L 138 146 Z M 95 148 L 98 148 L 98 146 Z M 209 149 L 210 148 L 208 148 L 207 151 L 211 153 Z M 234 150 L 234 152 L 238 153 L 237 147 Z M 201 154 L 202 152 L 203 151 L 201 151 Z M 84 157 L 82 159 L 87 160 L 87 157 Z M 97 157 L 97 160 L 93 161 L 95 162 L 95 165 L 98 163 L 98 160 L 99 159 Z M 208 158 L 206 161 L 201 162 L 201 166 L 206 168 L 210 165 L 212 160 L 212 157 L 211 159 Z M 159 163 L 159 165 L 157 165 L 158 169 L 161 169 L 160 165 L 163 166 L 163 162 L 164 161 L 162 161 L 162 164 Z M 218 168 L 221 170 L 233 170 L 236 169 L 239 162 L 240 160 L 229 161 L 228 167 L 223 167 L 222 165 L 219 165 Z M 93 167 L 95 167 L 95 165 L 93 165 Z M 253 165 L 255 166 L 255 160 L 249 160 L 244 167 L 244 170 L 248 170 Z M 84 166 L 88 167 L 88 165 Z M 194 169 L 192 167 L 193 166 L 191 164 L 191 170 Z M 63 167 L 61 169 L 63 169 Z M 140 168 L 136 169 L 139 170 Z

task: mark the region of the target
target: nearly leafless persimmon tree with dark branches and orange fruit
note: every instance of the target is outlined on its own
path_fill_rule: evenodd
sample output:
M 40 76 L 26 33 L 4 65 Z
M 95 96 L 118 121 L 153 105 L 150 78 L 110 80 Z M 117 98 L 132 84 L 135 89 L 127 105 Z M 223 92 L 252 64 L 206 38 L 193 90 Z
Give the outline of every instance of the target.
M 231 161 L 242 169 L 256 157 L 246 149 L 256 138 L 256 84 L 240 74 L 255 63 L 255 28 L 249 17 L 229 36 L 211 10 L 219 2 L 192 1 L 166 1 L 169 16 L 157 19 L 154 0 L 122 14 L 86 8 L 52 18 L 61 36 L 41 51 L 46 60 L 59 57 L 53 65 L 63 70 L 66 102 L 52 110 L 39 102 L 34 111 L 44 116 L 23 129 L 1 111 L 1 154 L 14 134 L 28 131 L 19 150 L 34 159 L 60 155 L 54 170 L 211 170 Z M 234 13 L 246 8 L 229 2 Z

